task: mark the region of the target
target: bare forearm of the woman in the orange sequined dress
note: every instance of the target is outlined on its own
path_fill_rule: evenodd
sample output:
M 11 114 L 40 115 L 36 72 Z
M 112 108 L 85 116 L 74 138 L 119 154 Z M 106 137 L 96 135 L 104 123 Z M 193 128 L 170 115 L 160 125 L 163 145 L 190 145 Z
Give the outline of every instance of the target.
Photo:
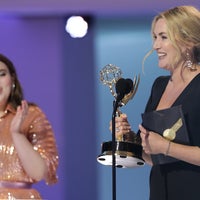
M 26 173 L 34 180 L 41 180 L 47 173 L 44 159 L 33 149 L 27 138 L 20 133 L 13 134 L 15 149 Z

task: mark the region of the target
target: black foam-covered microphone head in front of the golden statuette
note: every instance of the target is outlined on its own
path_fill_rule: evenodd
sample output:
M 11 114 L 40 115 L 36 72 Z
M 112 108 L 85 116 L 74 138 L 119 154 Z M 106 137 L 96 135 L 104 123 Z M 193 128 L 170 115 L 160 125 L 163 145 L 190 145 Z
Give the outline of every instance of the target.
M 121 101 L 126 94 L 133 89 L 133 81 L 131 79 L 120 78 L 115 84 L 117 101 Z

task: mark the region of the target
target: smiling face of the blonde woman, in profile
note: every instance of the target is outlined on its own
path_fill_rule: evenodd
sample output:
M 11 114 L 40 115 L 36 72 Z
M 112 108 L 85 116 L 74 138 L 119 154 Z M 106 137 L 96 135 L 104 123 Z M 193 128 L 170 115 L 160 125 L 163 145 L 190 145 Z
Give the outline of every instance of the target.
M 173 65 L 177 55 L 177 50 L 172 45 L 172 42 L 167 35 L 167 25 L 164 19 L 160 18 L 155 23 L 153 38 L 153 49 L 158 54 L 159 67 L 170 71 L 173 70 L 176 67 Z

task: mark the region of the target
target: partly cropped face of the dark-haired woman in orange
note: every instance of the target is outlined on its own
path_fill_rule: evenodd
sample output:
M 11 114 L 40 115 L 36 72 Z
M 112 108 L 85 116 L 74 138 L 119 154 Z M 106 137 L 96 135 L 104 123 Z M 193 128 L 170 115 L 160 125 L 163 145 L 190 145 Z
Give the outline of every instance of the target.
M 4 110 L 12 88 L 12 77 L 8 67 L 0 61 L 0 110 Z

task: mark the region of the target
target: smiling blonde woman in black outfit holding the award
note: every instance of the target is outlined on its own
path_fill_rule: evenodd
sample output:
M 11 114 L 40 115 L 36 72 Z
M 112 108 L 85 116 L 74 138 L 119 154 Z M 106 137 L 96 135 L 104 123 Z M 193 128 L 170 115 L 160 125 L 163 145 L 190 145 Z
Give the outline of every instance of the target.
M 153 51 L 169 71 L 153 83 L 145 113 L 181 106 L 189 142 L 182 144 L 139 125 L 143 159 L 152 166 L 150 200 L 198 200 L 200 180 L 200 12 L 178 6 L 152 22 Z M 148 54 L 148 56 L 151 52 Z M 130 130 L 127 117 L 116 118 L 116 135 Z M 169 119 L 165 119 L 168 121 Z M 156 122 L 155 122 L 156 123 Z M 111 129 L 111 126 L 110 126 Z M 185 134 L 185 133 L 184 133 Z M 159 156 L 173 162 L 155 162 Z

